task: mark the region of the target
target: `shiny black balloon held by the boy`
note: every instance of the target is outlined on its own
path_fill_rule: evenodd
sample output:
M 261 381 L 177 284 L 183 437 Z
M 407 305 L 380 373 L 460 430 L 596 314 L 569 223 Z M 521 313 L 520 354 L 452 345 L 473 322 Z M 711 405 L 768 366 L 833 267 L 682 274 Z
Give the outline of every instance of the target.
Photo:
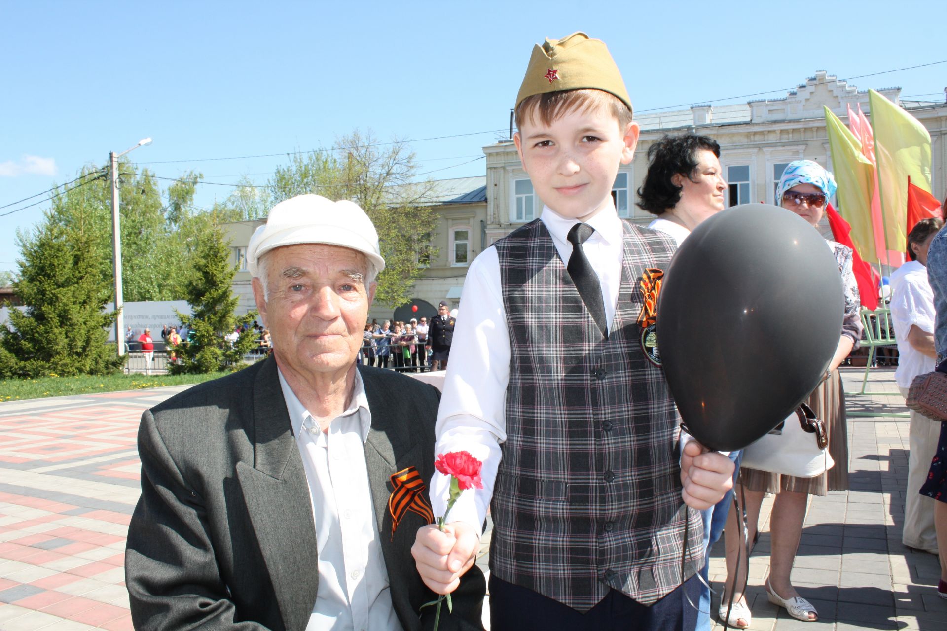
M 658 297 L 657 343 L 685 426 L 706 447 L 746 447 L 818 385 L 839 336 L 838 264 L 804 219 L 743 204 L 681 244 Z

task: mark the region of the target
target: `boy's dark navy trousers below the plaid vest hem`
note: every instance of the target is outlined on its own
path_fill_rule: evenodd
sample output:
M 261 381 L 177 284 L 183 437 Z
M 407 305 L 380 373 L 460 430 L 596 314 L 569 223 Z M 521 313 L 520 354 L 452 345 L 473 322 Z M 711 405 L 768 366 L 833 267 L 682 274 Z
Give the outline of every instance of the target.
M 700 581 L 691 576 L 651 606 L 616 589 L 585 613 L 490 575 L 491 631 L 693 631 Z M 690 598 L 690 605 L 688 603 Z

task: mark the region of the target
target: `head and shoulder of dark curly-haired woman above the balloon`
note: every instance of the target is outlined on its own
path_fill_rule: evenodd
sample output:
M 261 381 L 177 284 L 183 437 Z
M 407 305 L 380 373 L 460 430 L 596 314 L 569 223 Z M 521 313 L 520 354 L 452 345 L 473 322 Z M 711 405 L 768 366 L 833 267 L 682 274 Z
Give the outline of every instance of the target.
M 708 136 L 665 136 L 648 149 L 648 174 L 637 205 L 657 215 L 649 228 L 680 244 L 704 219 L 724 210 L 720 145 Z

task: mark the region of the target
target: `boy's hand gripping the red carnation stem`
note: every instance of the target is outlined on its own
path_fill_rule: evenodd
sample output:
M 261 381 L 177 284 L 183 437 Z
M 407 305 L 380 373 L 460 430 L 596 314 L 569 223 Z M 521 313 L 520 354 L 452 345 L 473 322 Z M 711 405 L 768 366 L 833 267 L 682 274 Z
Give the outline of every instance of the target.
M 455 521 L 438 530 L 434 524 L 424 526 L 415 536 L 411 554 L 424 585 L 435 593 L 447 594 L 460 585 L 460 577 L 471 569 L 480 548 L 480 537 L 474 527 Z

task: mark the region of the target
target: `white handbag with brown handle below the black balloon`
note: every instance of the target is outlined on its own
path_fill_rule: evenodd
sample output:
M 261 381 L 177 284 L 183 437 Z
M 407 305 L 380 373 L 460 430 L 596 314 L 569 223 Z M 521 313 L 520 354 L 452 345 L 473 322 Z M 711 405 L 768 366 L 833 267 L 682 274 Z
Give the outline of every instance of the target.
M 741 466 L 796 478 L 814 478 L 835 461 L 829 454 L 829 434 L 823 421 L 803 403 L 782 423 L 743 449 Z

